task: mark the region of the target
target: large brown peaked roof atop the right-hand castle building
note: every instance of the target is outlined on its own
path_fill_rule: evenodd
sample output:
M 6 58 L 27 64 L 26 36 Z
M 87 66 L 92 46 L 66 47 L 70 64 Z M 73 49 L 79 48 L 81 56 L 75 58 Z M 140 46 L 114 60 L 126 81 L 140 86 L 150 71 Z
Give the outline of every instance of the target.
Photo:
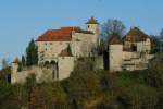
M 146 40 L 146 38 L 150 38 L 150 37 L 138 27 L 134 27 L 126 34 L 126 36 L 123 37 L 123 40 L 137 43 L 137 41 L 143 41 Z

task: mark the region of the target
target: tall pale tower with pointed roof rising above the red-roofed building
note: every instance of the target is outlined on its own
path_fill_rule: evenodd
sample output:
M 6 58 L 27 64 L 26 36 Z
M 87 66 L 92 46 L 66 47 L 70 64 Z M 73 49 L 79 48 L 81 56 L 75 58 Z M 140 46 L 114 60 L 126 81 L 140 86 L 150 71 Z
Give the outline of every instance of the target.
M 100 35 L 100 31 L 99 31 L 99 23 L 98 21 L 92 16 L 88 20 L 87 24 L 87 31 L 90 31 L 95 34 L 95 43 L 96 45 L 99 45 L 99 35 Z

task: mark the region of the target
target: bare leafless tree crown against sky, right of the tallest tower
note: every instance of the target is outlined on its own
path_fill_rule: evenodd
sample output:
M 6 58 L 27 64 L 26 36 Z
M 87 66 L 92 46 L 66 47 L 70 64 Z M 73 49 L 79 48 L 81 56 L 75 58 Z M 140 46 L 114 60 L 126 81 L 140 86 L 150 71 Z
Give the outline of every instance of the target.
M 108 20 L 105 23 L 102 24 L 101 31 L 102 37 L 108 40 L 113 34 L 123 36 L 125 34 L 126 27 L 120 20 Z

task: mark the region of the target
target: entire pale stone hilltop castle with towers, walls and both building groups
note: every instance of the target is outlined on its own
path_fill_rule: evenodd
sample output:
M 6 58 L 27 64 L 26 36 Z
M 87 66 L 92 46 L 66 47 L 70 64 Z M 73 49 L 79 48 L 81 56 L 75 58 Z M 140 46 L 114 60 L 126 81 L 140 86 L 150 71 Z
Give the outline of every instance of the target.
M 82 57 L 97 58 L 97 68 L 103 68 L 103 58 L 98 56 L 100 44 L 99 23 L 91 17 L 80 27 L 61 27 L 49 29 L 38 37 L 38 66 L 17 72 L 17 59 L 12 63 L 12 83 L 25 82 L 28 74 L 35 72 L 37 81 L 64 80 L 74 70 L 75 61 Z M 138 27 L 131 28 L 122 39 L 111 36 L 108 46 L 108 65 L 111 72 L 122 70 L 147 69 L 152 49 L 152 39 Z M 45 68 L 46 66 L 46 68 Z

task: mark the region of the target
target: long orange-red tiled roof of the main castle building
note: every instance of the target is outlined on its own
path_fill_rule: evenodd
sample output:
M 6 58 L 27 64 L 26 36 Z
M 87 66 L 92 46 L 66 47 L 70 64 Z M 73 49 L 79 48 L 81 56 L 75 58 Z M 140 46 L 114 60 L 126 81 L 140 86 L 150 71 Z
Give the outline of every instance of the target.
M 90 34 L 91 32 L 82 31 L 79 27 L 61 27 L 61 29 L 49 29 L 39 36 L 36 41 L 70 41 L 72 40 L 72 32 Z

